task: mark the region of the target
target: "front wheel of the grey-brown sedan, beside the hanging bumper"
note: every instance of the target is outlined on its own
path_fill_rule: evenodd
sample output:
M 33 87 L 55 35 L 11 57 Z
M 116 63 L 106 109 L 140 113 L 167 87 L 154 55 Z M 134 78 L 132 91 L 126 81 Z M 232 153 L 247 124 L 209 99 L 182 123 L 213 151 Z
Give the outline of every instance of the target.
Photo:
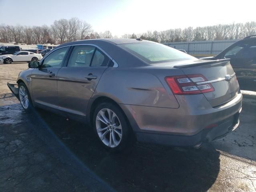
M 30 98 L 30 94 L 28 92 L 28 88 L 24 83 L 19 84 L 19 98 L 20 104 L 26 112 L 29 113 L 32 111 L 32 109 L 34 109 L 34 106 Z

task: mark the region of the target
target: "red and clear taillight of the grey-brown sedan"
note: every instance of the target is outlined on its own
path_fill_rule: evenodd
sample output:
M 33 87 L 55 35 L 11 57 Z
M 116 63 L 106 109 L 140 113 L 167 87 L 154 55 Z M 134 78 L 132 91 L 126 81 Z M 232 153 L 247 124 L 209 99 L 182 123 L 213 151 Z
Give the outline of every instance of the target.
M 176 95 L 201 94 L 214 91 L 210 83 L 196 84 L 196 82 L 208 81 L 202 74 L 168 76 L 165 80 Z

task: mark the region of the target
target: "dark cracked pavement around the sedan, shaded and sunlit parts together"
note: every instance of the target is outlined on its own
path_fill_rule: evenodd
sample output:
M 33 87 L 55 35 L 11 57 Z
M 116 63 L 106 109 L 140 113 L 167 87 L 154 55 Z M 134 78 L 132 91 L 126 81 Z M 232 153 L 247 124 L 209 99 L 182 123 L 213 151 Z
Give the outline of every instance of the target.
M 136 143 L 108 154 L 91 128 L 26 114 L 6 86 L 27 63 L 0 64 L 0 191 L 256 191 L 256 100 L 240 126 L 199 150 Z

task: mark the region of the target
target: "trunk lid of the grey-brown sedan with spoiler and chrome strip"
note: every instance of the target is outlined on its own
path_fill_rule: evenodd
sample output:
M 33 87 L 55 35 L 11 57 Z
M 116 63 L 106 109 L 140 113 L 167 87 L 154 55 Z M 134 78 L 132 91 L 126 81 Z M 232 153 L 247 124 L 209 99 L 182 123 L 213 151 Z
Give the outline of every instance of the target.
M 212 107 L 229 102 L 239 92 L 235 72 L 229 60 L 197 60 L 191 64 L 178 64 L 174 68 L 180 68 L 186 75 L 202 74 L 208 81 L 213 81 L 211 84 L 214 87 L 214 91 L 203 93 Z M 197 84 L 204 83 L 197 82 Z

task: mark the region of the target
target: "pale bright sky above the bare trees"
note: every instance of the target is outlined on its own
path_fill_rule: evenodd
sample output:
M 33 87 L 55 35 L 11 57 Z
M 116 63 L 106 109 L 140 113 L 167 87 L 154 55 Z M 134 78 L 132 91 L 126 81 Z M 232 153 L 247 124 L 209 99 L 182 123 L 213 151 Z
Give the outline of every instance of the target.
M 41 26 L 77 17 L 96 32 L 138 34 L 256 21 L 256 0 L 0 0 L 0 24 Z

